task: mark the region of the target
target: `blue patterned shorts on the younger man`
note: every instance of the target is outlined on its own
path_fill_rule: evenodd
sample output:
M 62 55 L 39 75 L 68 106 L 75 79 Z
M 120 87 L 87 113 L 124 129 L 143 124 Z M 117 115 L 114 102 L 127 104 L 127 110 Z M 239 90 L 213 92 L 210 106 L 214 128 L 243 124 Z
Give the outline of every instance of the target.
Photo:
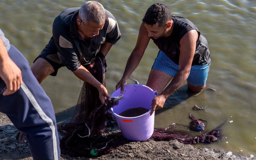
M 153 69 L 161 70 L 175 76 L 180 67 L 174 63 L 170 58 L 164 54 L 161 50 L 158 52 L 158 56 L 152 66 Z M 187 81 L 193 86 L 202 86 L 206 83 L 210 65 L 206 64 L 203 66 L 194 65 L 191 66 L 190 74 Z

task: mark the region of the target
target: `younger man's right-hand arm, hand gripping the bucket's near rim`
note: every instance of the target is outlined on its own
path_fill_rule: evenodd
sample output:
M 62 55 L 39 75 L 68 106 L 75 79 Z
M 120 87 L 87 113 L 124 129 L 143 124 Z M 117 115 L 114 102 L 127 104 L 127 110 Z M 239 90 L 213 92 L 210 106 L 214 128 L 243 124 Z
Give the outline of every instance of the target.
M 188 75 L 190 74 L 192 60 L 196 50 L 197 38 L 198 34 L 196 30 L 190 30 L 181 38 L 179 60 L 180 70 L 174 76 L 170 84 L 163 90 L 163 92 L 152 100 L 152 111 L 150 115 L 152 115 L 155 110 L 163 108 L 166 98 L 168 98 L 168 96 L 170 96 L 173 92 L 180 88 L 183 82 L 188 78 Z

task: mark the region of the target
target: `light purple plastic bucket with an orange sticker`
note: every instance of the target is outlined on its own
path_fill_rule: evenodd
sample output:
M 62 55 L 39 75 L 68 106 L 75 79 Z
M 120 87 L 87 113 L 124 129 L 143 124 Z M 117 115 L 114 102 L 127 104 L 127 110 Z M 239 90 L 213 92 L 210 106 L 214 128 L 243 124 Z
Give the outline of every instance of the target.
M 111 94 L 111 97 L 122 95 L 120 88 Z M 141 84 L 127 84 L 124 86 L 124 96 L 119 104 L 110 108 L 110 112 L 116 118 L 122 136 L 128 140 L 148 140 L 154 132 L 155 113 L 150 116 L 152 99 L 157 96 L 151 88 Z M 123 117 L 119 114 L 130 108 L 143 107 L 148 112 L 136 117 Z

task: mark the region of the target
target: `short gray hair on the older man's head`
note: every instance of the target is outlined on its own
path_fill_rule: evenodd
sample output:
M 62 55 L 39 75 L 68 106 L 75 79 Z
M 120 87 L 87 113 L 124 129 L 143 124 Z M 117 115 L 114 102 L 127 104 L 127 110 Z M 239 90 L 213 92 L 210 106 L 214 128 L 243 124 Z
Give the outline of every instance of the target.
M 88 1 L 81 6 L 79 17 L 85 24 L 90 20 L 97 24 L 103 24 L 105 22 L 106 13 L 102 4 L 96 1 Z

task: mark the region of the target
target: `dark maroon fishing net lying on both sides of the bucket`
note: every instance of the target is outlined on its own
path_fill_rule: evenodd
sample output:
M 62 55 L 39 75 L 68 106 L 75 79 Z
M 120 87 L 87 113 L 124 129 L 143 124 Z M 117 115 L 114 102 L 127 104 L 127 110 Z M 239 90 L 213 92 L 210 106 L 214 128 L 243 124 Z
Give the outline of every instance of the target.
M 94 61 L 94 66 L 87 67 L 90 73 L 104 85 L 105 66 L 104 56 L 99 55 Z M 100 156 L 131 142 L 123 138 L 120 132 L 104 134 L 106 120 L 109 117 L 108 110 L 117 103 L 118 101 L 112 98 L 106 100 L 106 105 L 102 105 L 98 98 L 98 90 L 84 82 L 72 119 L 68 124 L 59 127 L 62 136 L 61 152 L 69 156 Z M 176 129 L 176 125 L 172 124 L 166 129 L 154 128 L 153 135 L 147 141 L 172 139 L 184 144 L 196 144 L 213 142 L 218 136 L 220 136 L 220 130 L 217 129 L 210 133 L 193 136 L 184 130 Z

